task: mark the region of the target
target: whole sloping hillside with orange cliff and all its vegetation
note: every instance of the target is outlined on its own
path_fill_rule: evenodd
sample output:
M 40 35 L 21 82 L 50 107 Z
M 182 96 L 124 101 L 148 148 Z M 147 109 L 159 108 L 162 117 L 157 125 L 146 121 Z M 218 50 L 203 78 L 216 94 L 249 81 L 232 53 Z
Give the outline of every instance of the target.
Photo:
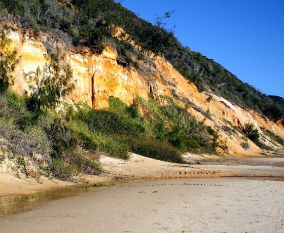
M 112 0 L 1 0 L 0 8 L 1 57 L 17 54 L 1 79 L 7 173 L 35 176 L 44 164 L 62 179 L 98 174 L 101 154 L 182 163 L 186 152 L 283 150 L 283 98 L 183 47 L 162 24 Z

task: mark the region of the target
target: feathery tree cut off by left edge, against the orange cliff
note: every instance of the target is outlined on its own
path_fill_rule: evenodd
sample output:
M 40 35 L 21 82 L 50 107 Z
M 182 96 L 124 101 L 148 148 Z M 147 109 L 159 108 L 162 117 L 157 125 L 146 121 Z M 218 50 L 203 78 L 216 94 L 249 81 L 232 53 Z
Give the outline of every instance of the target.
M 7 26 L 2 26 L 0 31 L 0 91 L 6 90 L 9 85 L 14 84 L 12 73 L 16 65 L 19 64 L 17 49 L 9 49 L 12 40 L 7 37 L 7 33 Z

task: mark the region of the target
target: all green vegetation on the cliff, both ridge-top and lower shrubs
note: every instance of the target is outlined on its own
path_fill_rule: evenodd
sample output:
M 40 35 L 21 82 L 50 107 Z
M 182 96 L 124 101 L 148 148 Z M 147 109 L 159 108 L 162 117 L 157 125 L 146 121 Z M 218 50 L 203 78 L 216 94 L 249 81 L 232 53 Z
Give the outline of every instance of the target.
M 138 60 L 151 62 L 155 56 L 163 56 L 199 91 L 209 89 L 274 121 L 282 118 L 284 101 L 280 97 L 266 96 L 244 84 L 218 63 L 183 47 L 159 20 L 152 25 L 112 0 L 0 0 L 0 9 L 2 20 L 17 22 L 23 30 L 43 31 L 66 45 L 88 46 L 96 53 L 111 45 L 118 51 L 118 63 L 125 67 L 138 68 Z M 123 31 L 117 33 L 118 27 Z M 101 172 L 99 154 L 128 159 L 128 152 L 134 152 L 182 163 L 182 152 L 216 153 L 218 147 L 227 148 L 214 129 L 166 96 L 163 105 L 152 93 L 148 102 L 136 98 L 132 106 L 110 96 L 109 108 L 100 110 L 82 103 L 63 104 L 62 98 L 74 89 L 70 83 L 73 73 L 64 54 L 48 43 L 50 63 L 26 75 L 31 94 L 16 95 L 7 88 L 13 82 L 11 73 L 18 55 L 15 49 L 7 49 L 5 34 L 4 28 L 0 36 L 0 87 L 5 87 L 0 94 L 0 136 L 20 160 L 23 155 L 39 153 L 49 163 L 44 168 L 47 172 L 67 179 L 80 172 Z M 261 146 L 253 125 L 238 130 Z M 271 132 L 265 133 L 273 137 Z M 247 143 L 242 146 L 248 148 Z

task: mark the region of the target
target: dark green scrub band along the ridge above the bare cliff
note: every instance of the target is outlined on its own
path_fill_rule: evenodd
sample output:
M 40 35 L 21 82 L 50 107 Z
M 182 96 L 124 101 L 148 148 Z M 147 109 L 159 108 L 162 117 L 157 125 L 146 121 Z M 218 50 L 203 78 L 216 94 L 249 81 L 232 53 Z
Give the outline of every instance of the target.
M 162 19 L 153 25 L 140 19 L 114 0 L 1 0 L 0 18 L 16 21 L 24 29 L 44 31 L 67 44 L 85 45 L 101 52 L 109 44 L 118 51 L 118 62 L 134 65 L 136 60 L 165 57 L 199 91 L 209 89 L 243 107 L 255 109 L 273 121 L 284 113 L 281 97 L 267 96 L 243 83 L 230 71 L 200 53 L 182 46 Z M 124 32 L 118 36 L 117 27 Z

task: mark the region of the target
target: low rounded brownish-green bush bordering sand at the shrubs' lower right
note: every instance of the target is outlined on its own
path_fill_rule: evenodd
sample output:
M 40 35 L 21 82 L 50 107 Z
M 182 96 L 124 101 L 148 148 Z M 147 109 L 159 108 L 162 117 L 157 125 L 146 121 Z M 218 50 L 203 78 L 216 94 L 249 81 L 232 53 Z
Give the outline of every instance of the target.
M 141 137 L 133 139 L 130 144 L 131 151 L 140 154 L 141 156 L 171 163 L 183 162 L 180 150 L 169 145 L 165 141 Z

